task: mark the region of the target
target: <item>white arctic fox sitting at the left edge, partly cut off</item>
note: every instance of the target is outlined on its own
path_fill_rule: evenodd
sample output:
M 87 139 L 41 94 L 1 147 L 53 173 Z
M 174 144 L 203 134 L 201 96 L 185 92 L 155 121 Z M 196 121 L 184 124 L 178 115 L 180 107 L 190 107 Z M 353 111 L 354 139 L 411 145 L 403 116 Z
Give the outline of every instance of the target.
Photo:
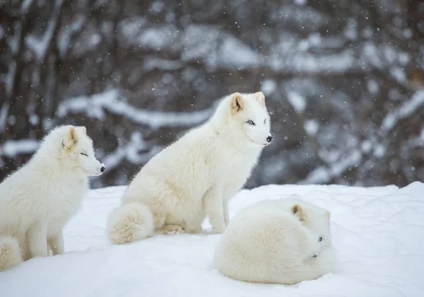
M 64 252 L 62 231 L 105 166 L 86 127 L 53 129 L 33 158 L 0 184 L 0 271 Z

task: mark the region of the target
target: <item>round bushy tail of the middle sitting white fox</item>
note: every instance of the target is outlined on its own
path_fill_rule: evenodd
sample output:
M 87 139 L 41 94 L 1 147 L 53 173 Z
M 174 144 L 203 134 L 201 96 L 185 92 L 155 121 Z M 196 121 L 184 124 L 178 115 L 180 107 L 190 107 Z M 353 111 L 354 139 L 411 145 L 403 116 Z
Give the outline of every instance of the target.
M 122 204 L 107 219 L 107 233 L 115 244 L 142 240 L 153 236 L 153 232 L 153 214 L 140 202 Z

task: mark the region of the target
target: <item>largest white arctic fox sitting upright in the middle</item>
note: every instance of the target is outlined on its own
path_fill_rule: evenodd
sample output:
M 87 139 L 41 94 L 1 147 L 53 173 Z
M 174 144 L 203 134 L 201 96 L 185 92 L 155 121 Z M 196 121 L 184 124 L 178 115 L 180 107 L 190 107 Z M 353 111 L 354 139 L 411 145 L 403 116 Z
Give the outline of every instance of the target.
M 161 233 L 197 233 L 205 217 L 214 233 L 228 225 L 228 201 L 271 143 L 261 92 L 233 93 L 206 123 L 154 156 L 136 175 L 107 221 L 112 243 Z

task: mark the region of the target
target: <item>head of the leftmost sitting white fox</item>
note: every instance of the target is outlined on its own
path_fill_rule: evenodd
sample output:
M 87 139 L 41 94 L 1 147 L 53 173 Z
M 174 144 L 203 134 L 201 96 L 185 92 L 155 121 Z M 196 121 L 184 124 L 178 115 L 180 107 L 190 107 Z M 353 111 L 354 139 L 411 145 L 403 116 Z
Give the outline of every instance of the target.
M 60 162 L 85 175 L 101 175 L 105 171 L 105 165 L 95 158 L 93 141 L 87 135 L 86 127 L 64 126 L 60 129 Z

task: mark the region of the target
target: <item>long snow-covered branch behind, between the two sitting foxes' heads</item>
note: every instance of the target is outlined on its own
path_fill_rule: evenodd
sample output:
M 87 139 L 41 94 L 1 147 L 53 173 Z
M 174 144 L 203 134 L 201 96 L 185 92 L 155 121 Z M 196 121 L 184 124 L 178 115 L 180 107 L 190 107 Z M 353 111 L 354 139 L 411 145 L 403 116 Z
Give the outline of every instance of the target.
M 200 124 L 207 120 L 215 111 L 213 104 L 206 110 L 194 112 L 160 112 L 141 110 L 129 105 L 119 90 L 111 89 L 103 93 L 88 96 L 78 96 L 64 101 L 59 105 L 58 117 L 66 117 L 70 112 L 86 112 L 86 116 L 101 119 L 105 112 L 120 115 L 152 129 L 159 127 L 179 127 Z

